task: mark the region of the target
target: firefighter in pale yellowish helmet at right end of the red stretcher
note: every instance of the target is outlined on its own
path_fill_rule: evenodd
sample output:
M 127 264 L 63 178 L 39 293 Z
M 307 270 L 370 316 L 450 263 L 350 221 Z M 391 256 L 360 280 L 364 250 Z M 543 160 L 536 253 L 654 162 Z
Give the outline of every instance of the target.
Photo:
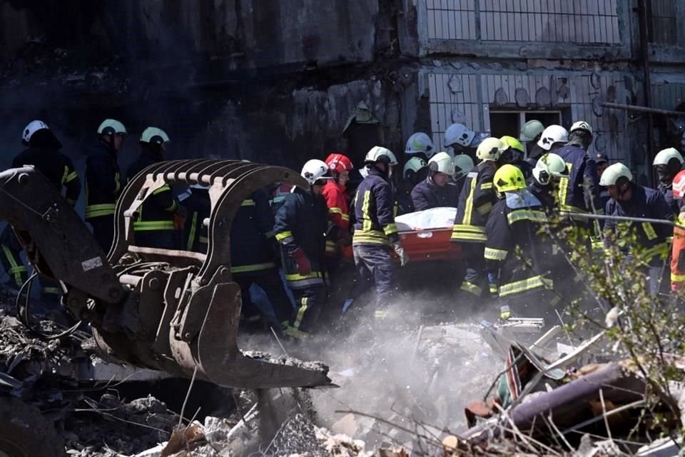
M 492 177 L 497 161 L 507 145 L 497 138 L 487 138 L 478 146 L 477 166 L 467 175 L 457 204 L 455 226 L 451 241 L 461 243 L 466 263 L 466 276 L 460 289 L 477 297 L 482 296 L 487 282 L 483 258 L 485 223 L 497 201 Z

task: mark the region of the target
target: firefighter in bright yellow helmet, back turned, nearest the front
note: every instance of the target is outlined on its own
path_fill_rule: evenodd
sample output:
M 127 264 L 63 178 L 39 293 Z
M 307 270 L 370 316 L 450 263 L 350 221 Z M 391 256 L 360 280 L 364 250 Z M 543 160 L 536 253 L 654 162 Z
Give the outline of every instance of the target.
M 547 243 L 539 242 L 538 232 L 541 224 L 547 224 L 547 215 L 526 189 L 521 170 L 504 164 L 493 182 L 499 201 L 485 226 L 485 268 L 489 292 L 502 306 L 500 317 L 508 318 L 519 296 L 547 291 L 552 297 L 553 282 L 546 265 L 552 252 Z

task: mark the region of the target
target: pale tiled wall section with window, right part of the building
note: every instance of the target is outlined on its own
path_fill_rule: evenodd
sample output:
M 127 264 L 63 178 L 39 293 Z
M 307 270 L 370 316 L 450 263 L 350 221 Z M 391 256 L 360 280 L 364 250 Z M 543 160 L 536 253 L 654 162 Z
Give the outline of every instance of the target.
M 558 113 L 567 128 L 588 121 L 593 150 L 626 161 L 646 179 L 646 117 L 602 106 L 644 104 L 641 66 L 635 64 L 636 6 L 636 0 L 418 0 L 419 54 L 432 59 L 420 85 L 430 99 L 435 144 L 443 147 L 453 122 L 489 132 L 497 130 L 493 112 Z M 685 100 L 685 34 L 674 24 L 685 14 L 685 1 L 657 1 L 651 8 L 652 106 L 676 109 Z M 664 33 L 668 27 L 670 34 Z M 678 127 L 664 119 L 655 123 L 657 146 L 671 146 Z

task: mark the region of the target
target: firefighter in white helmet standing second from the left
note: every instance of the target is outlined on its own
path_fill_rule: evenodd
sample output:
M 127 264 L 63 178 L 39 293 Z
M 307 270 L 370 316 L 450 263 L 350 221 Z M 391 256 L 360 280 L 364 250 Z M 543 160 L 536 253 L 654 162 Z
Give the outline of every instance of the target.
M 117 154 L 126 134 L 120 121 L 105 119 L 98 127 L 99 144 L 86 159 L 85 219 L 105 252 L 114 240 L 114 209 L 123 189 Z

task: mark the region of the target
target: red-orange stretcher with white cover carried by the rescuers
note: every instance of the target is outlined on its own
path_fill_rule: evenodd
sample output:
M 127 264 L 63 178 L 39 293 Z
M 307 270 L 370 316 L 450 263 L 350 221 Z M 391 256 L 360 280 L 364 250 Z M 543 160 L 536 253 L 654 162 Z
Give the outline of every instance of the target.
M 412 263 L 461 258 L 460 243 L 450 241 L 456 212 L 455 208 L 434 208 L 395 218 L 400 242 Z M 353 261 L 352 246 L 345 248 L 343 257 L 345 261 Z

